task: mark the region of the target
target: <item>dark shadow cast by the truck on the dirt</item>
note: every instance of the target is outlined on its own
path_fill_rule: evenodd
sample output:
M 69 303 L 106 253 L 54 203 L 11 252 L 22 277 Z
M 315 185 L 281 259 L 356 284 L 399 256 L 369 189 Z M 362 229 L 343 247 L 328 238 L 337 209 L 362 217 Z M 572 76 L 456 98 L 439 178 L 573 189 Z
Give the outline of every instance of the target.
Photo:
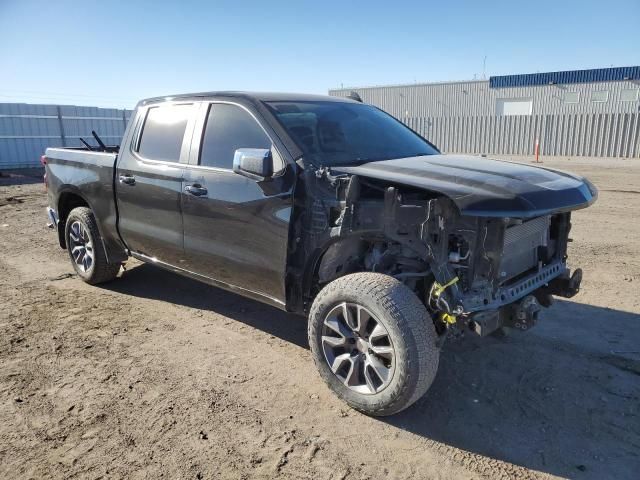
M 106 288 L 209 310 L 308 348 L 302 317 L 149 265 Z M 557 302 L 529 333 L 448 342 L 427 395 L 381 421 L 439 449 L 462 450 L 456 458 L 480 474 L 497 459 L 514 465 L 504 466 L 505 478 L 530 476 L 517 471 L 526 467 L 568 478 L 635 479 L 639 344 L 640 315 Z

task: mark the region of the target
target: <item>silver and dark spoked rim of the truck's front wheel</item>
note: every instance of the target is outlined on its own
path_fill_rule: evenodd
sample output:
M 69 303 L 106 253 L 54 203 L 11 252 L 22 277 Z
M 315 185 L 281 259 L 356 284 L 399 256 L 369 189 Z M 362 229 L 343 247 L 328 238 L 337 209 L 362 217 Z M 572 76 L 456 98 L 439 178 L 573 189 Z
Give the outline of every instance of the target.
M 333 374 L 350 390 L 384 390 L 395 370 L 395 350 L 384 325 L 366 308 L 341 303 L 325 317 L 322 351 Z

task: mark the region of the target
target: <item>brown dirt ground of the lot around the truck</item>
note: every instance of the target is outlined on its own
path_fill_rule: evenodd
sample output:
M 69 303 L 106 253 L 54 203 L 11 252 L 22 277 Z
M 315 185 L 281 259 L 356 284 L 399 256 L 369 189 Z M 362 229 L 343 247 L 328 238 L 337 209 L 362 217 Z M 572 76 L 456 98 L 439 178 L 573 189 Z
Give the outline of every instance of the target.
M 0 478 L 638 478 L 640 162 L 545 165 L 600 189 L 574 215 L 582 291 L 447 343 L 384 420 L 329 392 L 301 317 L 137 262 L 82 283 L 40 179 L 0 179 Z

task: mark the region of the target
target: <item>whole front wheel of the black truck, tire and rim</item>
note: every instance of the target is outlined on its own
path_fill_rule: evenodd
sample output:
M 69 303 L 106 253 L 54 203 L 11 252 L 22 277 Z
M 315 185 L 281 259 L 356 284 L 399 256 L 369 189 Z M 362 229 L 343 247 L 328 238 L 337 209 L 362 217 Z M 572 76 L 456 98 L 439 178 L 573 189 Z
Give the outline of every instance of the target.
M 324 381 L 367 415 L 409 407 L 438 370 L 425 306 L 403 283 L 379 273 L 346 275 L 322 289 L 309 313 L 309 344 Z

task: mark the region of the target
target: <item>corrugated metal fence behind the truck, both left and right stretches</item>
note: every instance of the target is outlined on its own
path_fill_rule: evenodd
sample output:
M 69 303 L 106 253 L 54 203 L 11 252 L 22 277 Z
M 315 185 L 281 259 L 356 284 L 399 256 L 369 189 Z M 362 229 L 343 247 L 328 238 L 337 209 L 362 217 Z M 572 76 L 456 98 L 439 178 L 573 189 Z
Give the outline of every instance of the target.
M 39 166 L 47 147 L 92 145 L 95 130 L 118 144 L 130 110 L 0 104 L 0 170 Z M 403 122 L 443 152 L 640 158 L 640 113 L 409 117 Z

